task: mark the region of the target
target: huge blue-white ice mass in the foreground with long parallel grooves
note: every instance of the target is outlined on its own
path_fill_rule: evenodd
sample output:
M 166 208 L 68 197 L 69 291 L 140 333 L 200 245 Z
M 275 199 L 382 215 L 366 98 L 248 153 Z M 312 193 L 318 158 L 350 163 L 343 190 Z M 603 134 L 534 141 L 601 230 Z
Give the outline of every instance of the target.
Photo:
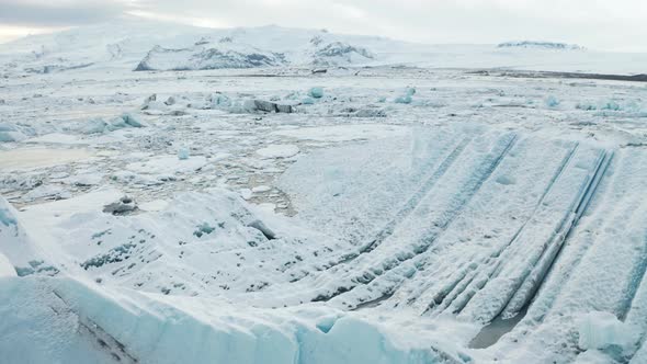
M 285 158 L 288 147 L 261 155 Z M 66 362 L 575 359 L 564 344 L 631 357 L 645 332 L 633 315 L 647 206 L 626 186 L 647 187 L 646 163 L 642 150 L 466 125 L 299 158 L 279 181 L 298 220 L 226 190 L 132 216 L 101 211 L 113 190 L 23 212 L 4 203 L 1 248 L 23 278 L 1 278 L 3 317 L 25 321 L 3 323 L 0 343 L 24 355 L 21 345 L 37 342 L 35 362 L 52 355 L 43 332 L 56 327 Z M 621 235 L 609 230 L 618 224 Z M 56 254 L 43 255 L 53 243 Z M 611 281 L 595 280 L 601 266 Z M 589 314 L 599 308 L 609 314 Z M 495 349 L 456 344 L 514 317 Z M 635 333 L 624 339 L 615 317 Z M 32 329 L 10 340 L 16 326 Z

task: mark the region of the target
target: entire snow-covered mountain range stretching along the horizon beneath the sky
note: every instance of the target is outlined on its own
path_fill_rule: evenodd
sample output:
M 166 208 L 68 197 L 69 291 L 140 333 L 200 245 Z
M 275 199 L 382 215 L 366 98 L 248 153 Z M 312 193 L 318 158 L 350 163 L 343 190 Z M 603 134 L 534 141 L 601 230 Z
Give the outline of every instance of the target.
M 3 75 L 337 66 L 644 73 L 645 64 L 644 54 L 602 53 L 550 42 L 424 45 L 326 30 L 204 29 L 137 18 L 0 45 Z

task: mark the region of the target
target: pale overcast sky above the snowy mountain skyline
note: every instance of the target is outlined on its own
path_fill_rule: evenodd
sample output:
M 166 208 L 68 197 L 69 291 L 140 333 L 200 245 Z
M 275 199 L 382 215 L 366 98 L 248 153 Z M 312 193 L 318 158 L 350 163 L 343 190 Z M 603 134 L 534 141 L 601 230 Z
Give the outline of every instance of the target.
M 536 39 L 647 52 L 647 0 L 0 0 L 0 42 L 123 14 L 276 24 L 422 43 Z

